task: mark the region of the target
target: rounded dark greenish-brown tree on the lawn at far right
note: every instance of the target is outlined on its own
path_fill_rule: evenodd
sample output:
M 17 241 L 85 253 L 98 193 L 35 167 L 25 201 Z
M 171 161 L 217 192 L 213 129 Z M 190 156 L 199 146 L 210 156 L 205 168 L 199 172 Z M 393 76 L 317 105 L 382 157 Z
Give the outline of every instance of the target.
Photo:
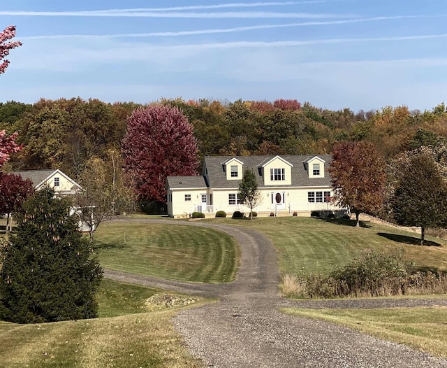
M 446 225 L 447 182 L 434 154 L 425 149 L 405 153 L 393 162 L 393 217 L 399 225 L 420 227 L 420 244 L 427 227 Z

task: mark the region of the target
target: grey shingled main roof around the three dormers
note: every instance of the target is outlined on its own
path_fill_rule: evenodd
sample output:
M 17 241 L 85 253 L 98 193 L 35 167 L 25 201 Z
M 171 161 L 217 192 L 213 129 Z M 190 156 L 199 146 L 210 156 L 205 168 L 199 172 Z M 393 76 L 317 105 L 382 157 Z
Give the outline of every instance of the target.
M 237 188 L 240 180 L 228 181 L 226 173 L 223 171 L 222 162 L 235 158 L 244 162 L 244 171 L 252 169 L 256 178 L 258 179 L 258 187 L 265 187 L 263 177 L 261 176 L 261 167 L 270 162 L 275 156 L 207 156 L 205 157 L 204 167 L 207 169 L 207 178 L 209 187 L 211 188 Z M 291 185 L 272 185 L 272 187 L 323 187 L 330 186 L 330 175 L 325 172 L 324 178 L 309 178 L 309 174 L 305 168 L 305 163 L 310 158 L 319 157 L 324 161 L 325 170 L 328 169 L 328 164 L 332 160 L 332 155 L 281 155 L 282 160 L 293 165 Z M 270 174 L 269 174 L 270 175 Z

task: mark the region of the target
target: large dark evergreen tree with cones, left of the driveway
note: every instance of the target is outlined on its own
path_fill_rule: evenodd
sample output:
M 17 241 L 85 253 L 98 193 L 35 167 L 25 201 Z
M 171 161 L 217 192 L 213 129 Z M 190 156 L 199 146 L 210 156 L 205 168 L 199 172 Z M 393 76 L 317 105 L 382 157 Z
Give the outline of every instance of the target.
M 0 318 L 42 323 L 94 318 L 102 269 L 66 199 L 44 188 L 15 214 L 17 233 L 3 249 Z

